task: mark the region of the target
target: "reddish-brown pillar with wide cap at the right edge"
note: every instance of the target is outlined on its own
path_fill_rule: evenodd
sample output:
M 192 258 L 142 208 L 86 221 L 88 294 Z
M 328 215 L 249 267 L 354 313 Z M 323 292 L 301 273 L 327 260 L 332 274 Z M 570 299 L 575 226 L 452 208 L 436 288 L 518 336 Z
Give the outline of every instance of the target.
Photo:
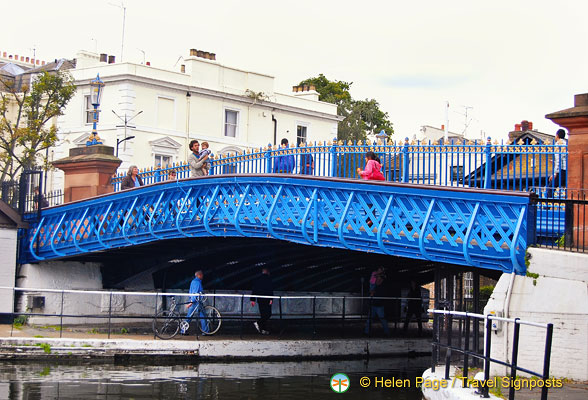
M 547 114 L 548 118 L 568 130 L 568 188 L 588 191 L 588 93 L 574 96 L 574 107 Z M 580 191 L 578 195 L 582 196 Z M 568 197 L 570 197 L 568 195 Z M 576 197 L 574 193 L 574 197 Z M 580 197 L 582 198 L 582 197 Z M 588 248 L 586 208 L 574 207 L 574 245 Z

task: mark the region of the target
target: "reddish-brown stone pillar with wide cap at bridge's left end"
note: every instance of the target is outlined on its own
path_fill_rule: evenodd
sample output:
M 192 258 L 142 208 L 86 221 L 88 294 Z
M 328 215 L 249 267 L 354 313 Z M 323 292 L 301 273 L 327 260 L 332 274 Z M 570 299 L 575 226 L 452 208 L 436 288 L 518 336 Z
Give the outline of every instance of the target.
M 66 203 L 112 193 L 110 178 L 121 160 L 114 148 L 104 145 L 75 147 L 69 157 L 53 161 L 65 173 L 64 201 Z

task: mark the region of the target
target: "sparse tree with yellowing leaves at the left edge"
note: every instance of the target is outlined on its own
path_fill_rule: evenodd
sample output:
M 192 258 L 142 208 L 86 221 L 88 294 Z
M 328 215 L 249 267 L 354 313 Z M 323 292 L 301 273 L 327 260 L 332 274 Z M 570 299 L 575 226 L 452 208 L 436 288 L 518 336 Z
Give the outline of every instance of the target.
M 75 93 L 67 72 L 37 75 L 32 85 L 0 78 L 1 180 L 15 179 L 22 169 L 47 163 L 42 151 L 57 141 L 53 118 L 63 114 Z

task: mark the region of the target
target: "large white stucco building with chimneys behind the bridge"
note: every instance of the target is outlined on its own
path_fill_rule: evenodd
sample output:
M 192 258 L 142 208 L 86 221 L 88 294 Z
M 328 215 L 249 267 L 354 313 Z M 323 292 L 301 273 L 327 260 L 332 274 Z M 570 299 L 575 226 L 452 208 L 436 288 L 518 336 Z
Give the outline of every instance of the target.
M 103 143 L 116 148 L 117 139 L 134 136 L 118 146 L 121 172 L 131 164 L 143 168 L 184 162 L 192 139 L 207 141 L 218 156 L 279 144 L 283 137 L 295 145 L 297 140 L 337 136 L 337 107 L 318 101 L 316 91 L 277 93 L 274 77 L 222 65 L 209 53 L 190 50 L 173 71 L 106 61 L 113 58 L 77 54 L 70 72 L 78 89 L 58 120 L 59 143 L 51 160 L 66 157 L 71 147 L 85 146 L 92 130 L 89 82 L 97 74 L 105 83 L 98 124 Z M 131 119 L 139 112 L 126 129 L 115 115 Z M 61 172 L 53 172 L 50 187 L 62 185 Z

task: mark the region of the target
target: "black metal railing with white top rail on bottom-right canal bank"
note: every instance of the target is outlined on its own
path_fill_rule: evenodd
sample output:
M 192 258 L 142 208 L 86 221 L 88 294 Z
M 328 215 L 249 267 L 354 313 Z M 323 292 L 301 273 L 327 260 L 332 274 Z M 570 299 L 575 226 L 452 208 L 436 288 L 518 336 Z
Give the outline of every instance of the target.
M 431 370 L 435 372 L 435 367 L 439 361 L 440 356 L 440 349 L 444 348 L 445 351 L 445 379 L 449 379 L 449 368 L 451 366 L 451 359 L 452 359 L 452 352 L 457 352 L 463 355 L 463 383 L 464 387 L 468 387 L 468 374 L 470 368 L 470 357 L 473 359 L 479 359 L 484 361 L 484 385 L 480 385 L 480 394 L 482 397 L 488 398 L 489 396 L 489 385 L 488 382 L 490 380 L 490 364 L 496 363 L 510 369 L 510 385 L 509 385 L 509 393 L 508 398 L 509 400 L 513 400 L 515 398 L 515 385 L 513 382 L 516 379 L 517 371 L 525 372 L 529 375 L 536 376 L 543 380 L 543 385 L 541 387 L 541 400 L 547 399 L 547 394 L 549 387 L 545 384 L 545 381 L 549 379 L 549 365 L 551 361 L 551 344 L 553 339 L 553 324 L 539 324 L 536 322 L 530 321 L 521 321 L 519 318 L 502 318 L 493 315 L 482 315 L 482 314 L 474 314 L 468 312 L 460 312 L 460 311 L 447 311 L 447 310 L 429 310 L 430 313 L 433 314 L 433 351 L 432 351 L 432 363 L 431 363 Z M 446 324 L 441 324 L 442 321 L 440 319 L 443 318 L 446 321 Z M 463 346 L 461 346 L 461 341 L 459 346 L 455 346 L 453 343 L 454 339 L 454 332 L 453 332 L 453 320 L 463 320 L 465 322 L 465 337 L 463 340 Z M 479 321 L 484 321 L 485 326 L 485 340 L 484 340 L 484 353 L 481 354 L 477 351 L 470 350 L 470 340 L 472 332 L 470 326 L 473 325 L 477 326 Z M 502 360 L 498 360 L 492 358 L 491 350 L 492 350 L 492 330 L 496 329 L 496 323 L 505 323 L 505 324 L 513 324 L 513 342 L 512 342 L 512 355 L 511 361 L 505 362 Z M 446 333 L 446 343 L 441 343 L 441 326 L 445 325 L 447 327 Z M 543 328 L 545 329 L 545 347 L 543 353 L 543 371 L 536 372 L 532 371 L 527 368 L 523 368 L 518 365 L 518 356 L 519 356 L 519 340 L 520 340 L 520 327 L 521 325 L 528 325 L 534 326 L 536 328 Z M 475 328 L 474 328 L 475 329 Z M 506 335 L 505 335 L 506 336 Z M 504 337 L 503 340 L 507 338 Z

